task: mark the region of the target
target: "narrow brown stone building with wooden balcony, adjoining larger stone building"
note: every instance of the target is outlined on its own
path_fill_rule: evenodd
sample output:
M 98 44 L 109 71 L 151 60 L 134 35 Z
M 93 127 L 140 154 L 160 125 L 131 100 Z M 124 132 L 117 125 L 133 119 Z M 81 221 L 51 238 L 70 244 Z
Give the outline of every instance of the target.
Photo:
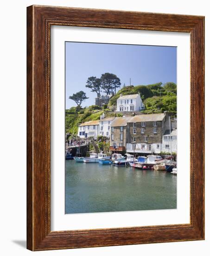
M 110 150 L 125 152 L 127 143 L 127 122 L 131 117 L 115 117 L 111 123 Z

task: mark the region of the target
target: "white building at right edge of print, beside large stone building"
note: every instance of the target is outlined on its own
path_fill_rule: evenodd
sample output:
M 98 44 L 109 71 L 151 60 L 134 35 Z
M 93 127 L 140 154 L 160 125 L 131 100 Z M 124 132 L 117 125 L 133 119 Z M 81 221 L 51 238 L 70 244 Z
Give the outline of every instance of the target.
M 163 147 L 162 151 L 168 153 L 177 153 L 177 129 L 171 131 L 170 138 L 170 130 L 166 130 L 163 135 Z

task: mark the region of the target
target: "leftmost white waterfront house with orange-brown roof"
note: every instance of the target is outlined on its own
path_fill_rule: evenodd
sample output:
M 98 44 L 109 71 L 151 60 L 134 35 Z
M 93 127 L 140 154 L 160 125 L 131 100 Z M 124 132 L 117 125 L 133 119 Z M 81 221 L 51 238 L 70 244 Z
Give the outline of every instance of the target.
M 80 138 L 93 137 L 94 139 L 100 135 L 99 132 L 99 121 L 88 121 L 78 126 L 78 134 Z

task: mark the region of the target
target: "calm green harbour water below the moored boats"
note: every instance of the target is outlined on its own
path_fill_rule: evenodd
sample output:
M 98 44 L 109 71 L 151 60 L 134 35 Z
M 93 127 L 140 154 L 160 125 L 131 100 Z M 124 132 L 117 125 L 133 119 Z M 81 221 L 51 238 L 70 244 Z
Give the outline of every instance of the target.
M 176 207 L 176 175 L 74 160 L 65 162 L 66 214 Z

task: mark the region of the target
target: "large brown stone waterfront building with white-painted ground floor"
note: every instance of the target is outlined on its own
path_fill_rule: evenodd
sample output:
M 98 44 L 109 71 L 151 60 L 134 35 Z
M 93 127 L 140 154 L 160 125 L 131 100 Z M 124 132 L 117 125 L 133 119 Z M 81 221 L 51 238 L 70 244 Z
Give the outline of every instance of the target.
M 166 111 L 133 116 L 127 121 L 127 153 L 159 154 L 163 151 L 163 135 L 169 129 L 170 119 Z

